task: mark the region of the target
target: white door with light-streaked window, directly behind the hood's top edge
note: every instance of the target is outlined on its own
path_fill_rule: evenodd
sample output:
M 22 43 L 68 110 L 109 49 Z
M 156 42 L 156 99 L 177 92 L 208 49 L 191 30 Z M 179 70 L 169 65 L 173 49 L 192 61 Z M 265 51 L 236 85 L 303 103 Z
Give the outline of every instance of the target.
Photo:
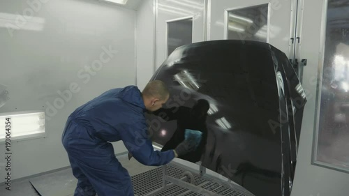
M 211 0 L 208 4 L 207 40 L 257 40 L 270 43 L 292 59 L 295 1 Z

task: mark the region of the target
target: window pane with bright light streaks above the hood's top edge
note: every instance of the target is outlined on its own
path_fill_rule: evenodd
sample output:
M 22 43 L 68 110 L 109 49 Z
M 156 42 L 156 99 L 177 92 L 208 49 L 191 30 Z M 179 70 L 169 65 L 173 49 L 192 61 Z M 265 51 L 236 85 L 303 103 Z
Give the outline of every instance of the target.
M 228 40 L 267 42 L 268 4 L 228 11 Z

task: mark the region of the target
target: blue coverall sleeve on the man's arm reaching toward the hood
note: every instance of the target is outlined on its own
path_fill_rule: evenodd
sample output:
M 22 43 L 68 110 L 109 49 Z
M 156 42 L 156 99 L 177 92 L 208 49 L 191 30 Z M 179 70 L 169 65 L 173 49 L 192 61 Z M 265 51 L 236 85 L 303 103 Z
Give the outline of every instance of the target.
M 140 118 L 132 123 L 124 123 L 119 133 L 128 151 L 143 165 L 165 165 L 174 158 L 172 150 L 154 151 L 145 119 Z

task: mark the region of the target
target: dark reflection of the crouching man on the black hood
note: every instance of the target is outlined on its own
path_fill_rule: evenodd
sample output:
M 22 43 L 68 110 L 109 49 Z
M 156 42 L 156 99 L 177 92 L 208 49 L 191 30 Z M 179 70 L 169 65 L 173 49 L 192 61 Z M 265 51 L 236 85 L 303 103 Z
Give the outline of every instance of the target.
M 209 110 L 209 102 L 205 99 L 196 101 L 193 107 L 180 106 L 177 109 L 161 108 L 153 114 L 161 116 L 166 121 L 177 120 L 177 129 L 168 142 L 163 146 L 161 151 L 173 149 L 179 143 L 184 140 L 184 133 L 186 129 L 199 130 L 202 132 L 202 140 L 198 146 L 198 149 L 192 153 L 187 153 L 184 156 L 178 158 L 196 163 L 200 161 L 202 153 L 205 150 L 207 140 L 207 126 L 206 117 Z

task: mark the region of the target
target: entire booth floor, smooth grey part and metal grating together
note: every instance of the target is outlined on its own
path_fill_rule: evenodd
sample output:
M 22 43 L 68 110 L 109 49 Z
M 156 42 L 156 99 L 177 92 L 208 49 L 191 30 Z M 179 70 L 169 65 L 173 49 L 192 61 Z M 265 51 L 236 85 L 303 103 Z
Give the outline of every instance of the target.
M 187 188 L 180 187 L 166 181 L 167 188 L 162 189 L 156 193 L 154 191 L 162 187 L 162 167 L 145 166 L 138 163 L 132 158 L 128 160 L 127 154 L 118 156 L 118 160 L 132 176 L 133 189 L 135 196 L 148 195 L 153 193 L 154 196 L 204 196 L 205 192 L 194 193 Z M 178 165 L 168 165 L 168 175 L 173 178 L 180 179 L 183 177 L 186 169 L 178 167 Z M 204 190 L 210 191 L 209 195 L 223 195 L 223 196 L 248 196 L 244 192 L 232 189 L 229 186 L 222 186 L 220 183 L 211 181 L 204 176 L 193 174 L 194 184 Z M 12 190 L 5 190 L 5 186 L 0 186 L 0 196 L 73 196 L 77 179 L 73 176 L 71 169 L 62 169 L 58 172 L 50 174 L 43 174 L 34 178 L 29 178 L 22 181 L 15 181 L 12 184 Z M 34 189 L 35 188 L 35 189 Z M 38 192 L 38 193 L 37 193 Z M 39 195 L 39 196 L 40 196 Z

